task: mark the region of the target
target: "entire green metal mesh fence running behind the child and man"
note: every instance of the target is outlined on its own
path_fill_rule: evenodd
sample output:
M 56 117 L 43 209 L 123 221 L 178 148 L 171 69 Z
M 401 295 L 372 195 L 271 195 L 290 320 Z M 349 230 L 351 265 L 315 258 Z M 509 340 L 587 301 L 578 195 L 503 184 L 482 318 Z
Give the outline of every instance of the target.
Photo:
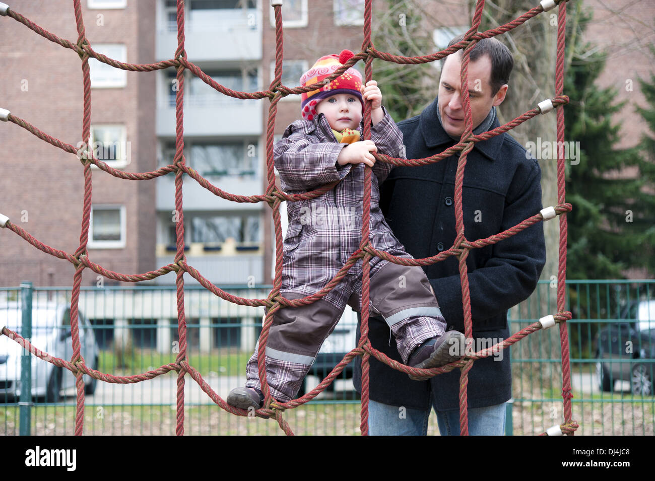
M 655 316 L 637 323 L 637 318 L 643 317 L 639 306 L 653 298 L 654 284 L 655 281 L 567 282 L 574 316 L 568 326 L 573 418 L 580 423 L 578 433 L 653 434 L 654 347 L 652 338 L 648 341 L 645 336 L 635 336 L 635 332 L 643 334 L 645 328 L 655 327 Z M 185 290 L 189 361 L 225 399 L 230 389 L 244 383 L 246 361 L 261 330 L 263 308 L 236 306 L 200 287 L 187 286 Z M 237 296 L 265 298 L 269 287 L 227 290 Z M 512 308 L 513 332 L 542 315 L 555 312 L 551 305 L 555 293 L 552 283 L 540 283 L 531 300 Z M 24 285 L 0 290 L 0 325 L 25 329 L 22 325 L 25 314 L 18 306 L 21 301 L 22 305 L 29 305 L 29 295 L 33 306 L 33 344 L 52 355 L 70 359 L 72 351 L 62 347 L 70 343 L 70 336 L 61 326 L 67 321 L 69 289 L 32 289 Z M 79 307 L 83 316 L 81 342 L 86 345 L 86 353 L 83 347 L 86 363 L 102 372 L 128 376 L 173 362 L 178 353 L 176 305 L 174 286 L 83 288 Z M 639 327 L 642 329 L 637 329 Z M 348 332 L 348 329 L 341 331 Z M 346 349 L 354 347 L 354 338 L 349 342 L 352 346 Z M 72 434 L 75 419 L 72 374 L 65 370 L 58 377 L 56 370 L 48 368 L 47 363 L 20 352 L 20 346 L 16 348 L 17 345 L 12 344 L 16 343 L 0 336 L 0 435 Z M 341 360 L 339 351 L 343 349 L 333 350 L 333 354 L 324 357 L 328 358 L 328 363 L 336 364 Z M 531 334 L 512 347 L 511 357 L 514 400 L 508 404 L 511 414 L 508 434 L 539 434 L 563 422 L 557 327 Z M 20 382 L 20 372 L 15 371 L 20 371 L 21 365 L 26 366 L 23 371 L 31 374 L 33 380 L 31 392 L 21 389 L 18 398 L 12 395 L 12 389 Z M 327 372 L 328 368 L 322 368 L 314 372 L 315 376 L 308 376 L 308 386 L 316 385 Z M 650 378 L 650 394 L 645 392 L 644 382 L 639 394 L 631 393 L 633 374 L 639 374 L 644 382 Z M 286 419 L 295 433 L 359 433 L 360 401 L 352 389 L 350 376 L 351 370 L 346 370 L 333 384 L 333 389 L 322 393 L 315 401 L 286 412 Z M 57 387 L 62 389 L 54 393 Z M 611 389 L 603 391 L 603 387 Z M 177 387 L 174 372 L 127 385 L 92 384 L 86 379 L 86 391 L 84 433 L 87 435 L 175 433 Z M 430 417 L 428 432 L 438 433 L 434 416 Z M 191 378 L 185 383 L 185 433 L 283 434 L 272 421 L 240 418 L 224 412 Z

